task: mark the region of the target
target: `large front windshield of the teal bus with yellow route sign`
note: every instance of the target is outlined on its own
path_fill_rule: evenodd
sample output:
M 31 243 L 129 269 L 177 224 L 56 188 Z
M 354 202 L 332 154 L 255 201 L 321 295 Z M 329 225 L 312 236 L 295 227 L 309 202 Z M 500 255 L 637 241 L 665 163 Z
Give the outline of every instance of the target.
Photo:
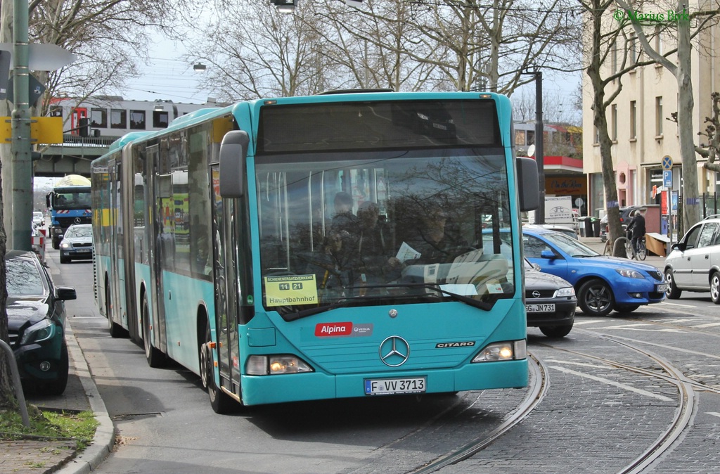
M 263 303 L 286 318 L 447 300 L 489 309 L 515 292 L 502 148 L 258 156 L 256 183 Z

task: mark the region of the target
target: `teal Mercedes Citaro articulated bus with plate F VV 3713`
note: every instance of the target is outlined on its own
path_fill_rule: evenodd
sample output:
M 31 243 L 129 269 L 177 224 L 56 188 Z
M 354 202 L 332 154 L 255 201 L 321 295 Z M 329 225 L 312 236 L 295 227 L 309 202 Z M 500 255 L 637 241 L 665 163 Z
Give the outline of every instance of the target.
M 343 91 L 202 109 L 91 166 L 112 336 L 212 408 L 519 388 L 521 211 L 538 172 L 510 101 Z

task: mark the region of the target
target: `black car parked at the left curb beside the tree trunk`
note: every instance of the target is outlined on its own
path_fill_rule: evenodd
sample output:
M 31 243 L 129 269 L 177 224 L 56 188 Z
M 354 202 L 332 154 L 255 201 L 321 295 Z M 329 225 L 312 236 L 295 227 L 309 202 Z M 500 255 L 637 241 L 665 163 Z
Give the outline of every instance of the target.
M 10 346 L 24 386 L 60 395 L 68 383 L 65 301 L 69 287 L 55 287 L 50 273 L 31 251 L 5 254 Z

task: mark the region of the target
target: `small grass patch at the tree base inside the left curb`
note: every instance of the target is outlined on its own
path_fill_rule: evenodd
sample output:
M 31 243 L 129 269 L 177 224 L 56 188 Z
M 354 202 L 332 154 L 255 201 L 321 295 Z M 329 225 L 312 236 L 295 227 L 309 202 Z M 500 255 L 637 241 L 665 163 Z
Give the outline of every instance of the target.
M 0 411 L 0 439 L 73 439 L 78 450 L 84 450 L 95 436 L 97 420 L 91 411 L 71 413 L 63 411 L 40 411 L 34 405 L 27 406 L 30 427 L 22 424 L 19 411 Z

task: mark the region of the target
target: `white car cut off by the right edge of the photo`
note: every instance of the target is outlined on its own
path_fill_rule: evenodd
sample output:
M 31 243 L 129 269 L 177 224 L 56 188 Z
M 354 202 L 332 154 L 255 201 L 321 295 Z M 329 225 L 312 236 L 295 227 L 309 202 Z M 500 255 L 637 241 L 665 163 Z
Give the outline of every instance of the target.
M 720 305 L 720 215 L 693 225 L 665 259 L 667 298 L 680 298 L 683 291 L 709 291 Z

